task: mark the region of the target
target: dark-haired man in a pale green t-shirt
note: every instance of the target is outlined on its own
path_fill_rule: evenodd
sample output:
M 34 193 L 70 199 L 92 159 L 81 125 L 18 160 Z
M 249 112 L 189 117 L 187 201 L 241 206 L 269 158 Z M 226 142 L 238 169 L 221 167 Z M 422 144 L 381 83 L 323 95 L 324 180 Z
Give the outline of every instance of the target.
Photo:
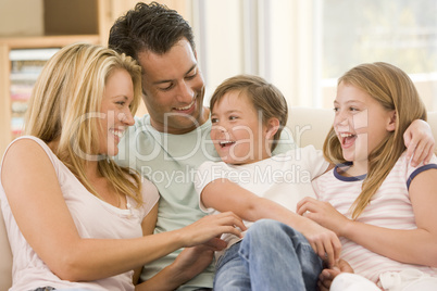
M 120 143 L 117 161 L 136 168 L 158 187 L 161 200 L 155 233 L 178 229 L 202 216 L 193 188 L 193 172 L 207 160 L 218 160 L 210 140 L 210 111 L 203 106 L 204 83 L 189 24 L 174 10 L 138 3 L 118 18 L 109 47 L 142 67 L 148 115 L 136 121 Z M 172 253 L 145 266 L 148 280 L 177 256 Z M 180 290 L 212 288 L 213 266 Z

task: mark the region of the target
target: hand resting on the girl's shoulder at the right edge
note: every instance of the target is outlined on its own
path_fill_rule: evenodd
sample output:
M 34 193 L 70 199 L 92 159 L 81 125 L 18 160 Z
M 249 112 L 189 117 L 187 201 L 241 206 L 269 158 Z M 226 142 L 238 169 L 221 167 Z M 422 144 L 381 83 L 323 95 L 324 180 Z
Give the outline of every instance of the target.
M 411 123 L 403 134 L 403 140 L 407 147 L 407 156 L 411 160 L 412 166 L 420 163 L 427 164 L 433 156 L 434 137 L 430 126 L 422 119 L 415 119 Z

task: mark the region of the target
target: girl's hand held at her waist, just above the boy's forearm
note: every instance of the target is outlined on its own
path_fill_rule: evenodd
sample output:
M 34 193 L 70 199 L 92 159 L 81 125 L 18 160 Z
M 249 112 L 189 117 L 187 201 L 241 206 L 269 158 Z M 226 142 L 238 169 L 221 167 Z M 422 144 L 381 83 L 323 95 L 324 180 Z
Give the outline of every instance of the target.
M 351 220 L 336 211 L 330 203 L 309 197 L 299 201 L 297 213 L 333 230 L 338 237 L 342 236 L 342 229 L 351 223 Z

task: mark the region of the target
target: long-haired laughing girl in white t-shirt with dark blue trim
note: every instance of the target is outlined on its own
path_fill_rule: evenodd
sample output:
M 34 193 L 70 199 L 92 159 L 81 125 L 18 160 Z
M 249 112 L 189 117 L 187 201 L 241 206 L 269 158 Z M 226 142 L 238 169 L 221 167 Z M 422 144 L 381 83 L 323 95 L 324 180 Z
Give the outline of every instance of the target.
M 298 213 L 335 231 L 341 258 L 384 290 L 436 290 L 437 159 L 412 166 L 402 139 L 426 121 L 413 83 L 394 65 L 362 64 L 339 79 L 334 106 L 324 155 L 337 166 L 315 180 L 320 201 L 303 199 Z M 335 290 L 367 284 L 340 278 Z

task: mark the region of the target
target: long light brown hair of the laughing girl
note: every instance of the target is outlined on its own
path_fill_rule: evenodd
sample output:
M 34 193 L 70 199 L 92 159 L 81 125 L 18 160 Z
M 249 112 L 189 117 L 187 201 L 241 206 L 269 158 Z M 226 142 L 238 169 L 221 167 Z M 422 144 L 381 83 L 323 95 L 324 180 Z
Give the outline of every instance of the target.
M 360 88 L 387 111 L 396 112 L 396 129 L 369 154 L 369 169 L 360 195 L 351 206 L 357 219 L 380 187 L 395 163 L 405 151 L 403 132 L 415 119 L 426 121 L 426 109 L 410 77 L 400 68 L 384 62 L 361 64 L 338 79 Z M 325 157 L 334 163 L 345 163 L 340 142 L 332 127 L 323 146 Z

